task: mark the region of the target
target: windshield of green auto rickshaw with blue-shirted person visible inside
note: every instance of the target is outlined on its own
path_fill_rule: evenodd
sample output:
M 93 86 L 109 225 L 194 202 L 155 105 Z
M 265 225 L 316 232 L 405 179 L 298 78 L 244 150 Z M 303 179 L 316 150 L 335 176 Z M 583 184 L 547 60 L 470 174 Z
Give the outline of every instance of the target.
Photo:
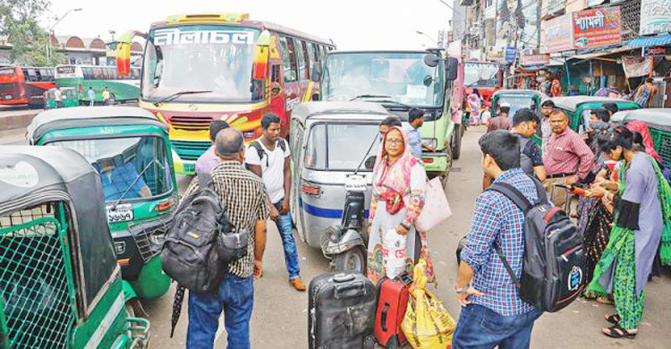
M 100 174 L 106 201 L 147 200 L 172 191 L 166 145 L 155 136 L 59 140 L 86 157 Z

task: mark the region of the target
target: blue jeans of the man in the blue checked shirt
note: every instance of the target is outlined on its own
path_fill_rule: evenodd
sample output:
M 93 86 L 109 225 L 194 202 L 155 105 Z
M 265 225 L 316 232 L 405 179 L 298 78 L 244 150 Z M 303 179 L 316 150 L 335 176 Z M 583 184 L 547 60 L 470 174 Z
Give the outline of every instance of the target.
M 533 321 L 542 311 L 503 316 L 481 305 L 462 308 L 454 329 L 452 349 L 529 349 Z

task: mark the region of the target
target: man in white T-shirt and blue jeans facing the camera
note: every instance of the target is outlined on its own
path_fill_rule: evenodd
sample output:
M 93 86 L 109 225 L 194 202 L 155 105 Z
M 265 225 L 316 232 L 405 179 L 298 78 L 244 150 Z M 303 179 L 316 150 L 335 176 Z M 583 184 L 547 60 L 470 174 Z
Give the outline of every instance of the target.
M 281 119 L 274 114 L 264 115 L 261 119 L 263 135 L 247 148 L 245 162 L 250 171 L 263 178 L 268 189 L 270 218 L 275 221 L 285 250 L 286 269 L 289 272 L 289 284 L 298 291 L 305 291 L 301 279 L 301 265 L 293 239 L 291 202 L 291 151 L 286 141 L 280 137 Z

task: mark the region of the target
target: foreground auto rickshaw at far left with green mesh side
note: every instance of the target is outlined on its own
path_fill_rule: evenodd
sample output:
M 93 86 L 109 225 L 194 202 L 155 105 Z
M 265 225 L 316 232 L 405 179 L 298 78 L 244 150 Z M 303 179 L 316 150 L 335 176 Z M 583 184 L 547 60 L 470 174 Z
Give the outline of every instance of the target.
M 70 149 L 0 152 L 0 348 L 140 349 L 100 176 Z

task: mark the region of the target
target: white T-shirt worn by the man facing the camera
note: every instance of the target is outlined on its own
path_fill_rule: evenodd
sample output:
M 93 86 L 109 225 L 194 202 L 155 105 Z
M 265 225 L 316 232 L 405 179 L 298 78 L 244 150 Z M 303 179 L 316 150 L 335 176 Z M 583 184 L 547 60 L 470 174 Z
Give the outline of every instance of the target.
M 279 140 L 285 141 L 285 140 Z M 268 196 L 273 203 L 277 203 L 285 198 L 285 158 L 291 156 L 289 145 L 286 144 L 286 151 L 283 151 L 276 144 L 275 149 L 270 151 L 259 140 L 261 149 L 266 153 L 262 159 L 259 159 L 259 152 L 252 146 L 247 147 L 244 155 L 244 161 L 248 165 L 261 166 L 263 174 L 263 183 L 266 184 Z

